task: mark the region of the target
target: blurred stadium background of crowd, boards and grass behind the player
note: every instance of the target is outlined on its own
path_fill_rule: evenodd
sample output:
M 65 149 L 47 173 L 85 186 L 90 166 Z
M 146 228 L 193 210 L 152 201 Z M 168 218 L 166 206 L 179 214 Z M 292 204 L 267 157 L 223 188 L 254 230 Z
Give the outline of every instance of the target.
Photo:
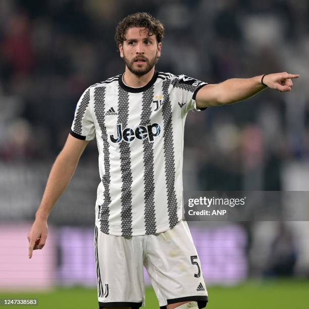
M 97 307 L 95 142 L 50 216 L 46 246 L 31 260 L 26 235 L 78 98 L 123 72 L 115 27 L 137 11 L 166 26 L 160 71 L 209 83 L 283 71 L 301 76 L 291 93 L 267 89 L 190 113 L 184 189 L 309 190 L 306 0 L 1 0 L 0 298 L 35 297 L 42 308 Z M 189 225 L 210 308 L 309 307 L 308 222 Z M 158 307 L 152 289 L 146 292 L 146 307 Z

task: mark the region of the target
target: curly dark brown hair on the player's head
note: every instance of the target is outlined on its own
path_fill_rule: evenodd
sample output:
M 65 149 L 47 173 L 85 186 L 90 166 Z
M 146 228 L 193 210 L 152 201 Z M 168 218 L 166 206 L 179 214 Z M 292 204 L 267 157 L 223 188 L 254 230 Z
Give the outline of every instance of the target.
M 147 35 L 156 35 L 158 43 L 161 42 L 164 37 L 164 25 L 150 14 L 139 12 L 128 15 L 118 24 L 115 34 L 117 46 L 123 44 L 126 40 L 125 35 L 127 30 L 132 27 L 144 27 L 144 29 L 148 30 Z

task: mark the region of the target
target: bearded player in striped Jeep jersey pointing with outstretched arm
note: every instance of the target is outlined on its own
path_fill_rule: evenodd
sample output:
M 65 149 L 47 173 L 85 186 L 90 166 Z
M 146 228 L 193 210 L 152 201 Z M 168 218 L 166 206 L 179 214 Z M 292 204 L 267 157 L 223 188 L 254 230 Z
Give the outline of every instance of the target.
M 198 254 L 182 221 L 183 130 L 187 113 L 231 104 L 266 87 L 290 91 L 287 73 L 207 84 L 155 71 L 164 27 L 147 13 L 122 20 L 116 42 L 124 74 L 81 96 L 63 150 L 28 234 L 29 258 L 47 237 L 47 218 L 96 136 L 101 182 L 95 204 L 95 260 L 100 308 L 144 306 L 143 265 L 160 306 L 207 304 Z

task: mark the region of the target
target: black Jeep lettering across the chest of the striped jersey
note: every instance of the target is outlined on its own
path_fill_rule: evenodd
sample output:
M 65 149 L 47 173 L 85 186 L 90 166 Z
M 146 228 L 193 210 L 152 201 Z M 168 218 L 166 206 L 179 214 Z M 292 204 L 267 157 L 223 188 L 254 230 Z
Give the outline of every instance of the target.
M 110 135 L 113 143 L 120 143 L 122 140 L 131 142 L 135 139 L 145 139 L 148 137 L 149 142 L 153 142 L 153 138 L 160 135 L 161 127 L 158 123 L 149 124 L 147 126 L 138 126 L 135 130 L 131 128 L 125 128 L 122 130 L 122 124 L 116 125 L 117 136 Z

